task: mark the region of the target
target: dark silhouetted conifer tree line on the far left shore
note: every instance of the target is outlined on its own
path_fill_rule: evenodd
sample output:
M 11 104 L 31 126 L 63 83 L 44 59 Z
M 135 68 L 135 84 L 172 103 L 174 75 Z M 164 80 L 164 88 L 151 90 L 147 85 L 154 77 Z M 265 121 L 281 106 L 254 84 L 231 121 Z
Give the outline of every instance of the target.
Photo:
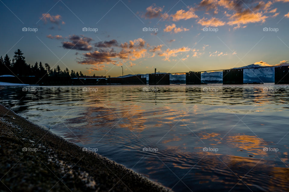
M 36 62 L 34 65 L 27 64 L 20 49 L 17 49 L 14 54 L 12 61 L 7 54 L 4 58 L 2 58 L 2 56 L 0 57 L 0 75 L 36 76 L 39 78 L 42 78 L 45 75 L 71 76 L 74 78 L 85 76 L 81 71 L 79 73 L 73 70 L 69 71 L 67 67 L 62 71 L 59 65 L 52 69 L 48 63 L 45 63 L 44 65 L 41 62 Z

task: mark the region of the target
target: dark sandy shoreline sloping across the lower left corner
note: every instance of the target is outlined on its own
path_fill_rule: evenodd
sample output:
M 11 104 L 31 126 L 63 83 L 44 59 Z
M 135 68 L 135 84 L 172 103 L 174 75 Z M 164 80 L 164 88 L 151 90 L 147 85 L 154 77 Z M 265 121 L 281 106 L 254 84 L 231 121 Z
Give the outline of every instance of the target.
M 169 191 L 0 104 L 1 191 Z

